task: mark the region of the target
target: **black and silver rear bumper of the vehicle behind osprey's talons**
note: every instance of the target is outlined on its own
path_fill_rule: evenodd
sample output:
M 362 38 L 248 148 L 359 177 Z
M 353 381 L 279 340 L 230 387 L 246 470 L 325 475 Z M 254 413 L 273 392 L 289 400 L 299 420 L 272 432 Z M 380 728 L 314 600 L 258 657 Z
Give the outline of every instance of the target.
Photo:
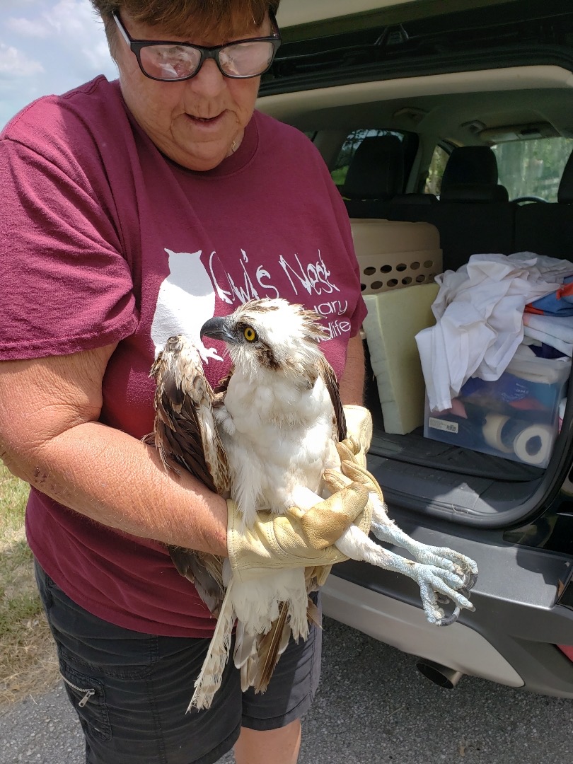
M 567 579 L 571 558 L 399 524 L 420 542 L 449 546 L 478 561 L 480 575 L 471 592 L 475 612 L 462 611 L 452 626 L 432 626 L 414 581 L 350 561 L 336 565 L 326 582 L 324 613 L 450 669 L 573 698 L 573 663 L 555 647 L 573 644 L 573 610 L 555 605 L 558 581 Z

